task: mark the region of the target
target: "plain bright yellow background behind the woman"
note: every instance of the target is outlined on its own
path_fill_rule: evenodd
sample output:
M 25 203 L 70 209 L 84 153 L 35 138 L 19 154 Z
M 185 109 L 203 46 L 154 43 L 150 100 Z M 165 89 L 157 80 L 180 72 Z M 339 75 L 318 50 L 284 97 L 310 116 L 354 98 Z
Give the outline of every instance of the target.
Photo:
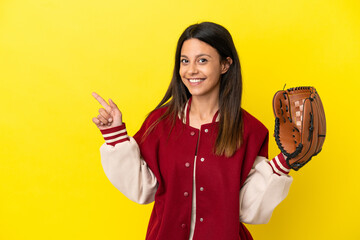
M 91 122 L 111 97 L 133 135 L 190 24 L 232 34 L 243 106 L 273 132 L 273 94 L 312 85 L 327 138 L 255 239 L 360 239 L 358 0 L 1 0 L 0 239 L 144 239 L 152 204 L 105 177 Z M 270 139 L 270 156 L 278 153 Z

